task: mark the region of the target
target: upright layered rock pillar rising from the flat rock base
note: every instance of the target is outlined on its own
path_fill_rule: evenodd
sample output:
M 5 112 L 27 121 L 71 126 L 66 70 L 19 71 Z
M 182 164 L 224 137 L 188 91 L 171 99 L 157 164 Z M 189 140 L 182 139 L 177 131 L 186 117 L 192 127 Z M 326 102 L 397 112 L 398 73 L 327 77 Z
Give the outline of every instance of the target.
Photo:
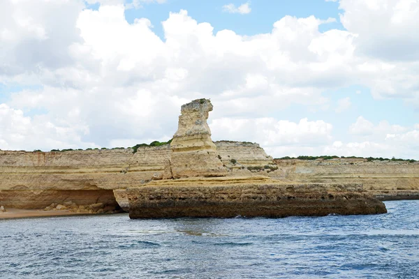
M 212 111 L 210 100 L 198 99 L 182 105 L 179 126 L 170 143 L 170 159 L 167 161 L 164 178 L 191 176 L 225 176 L 223 166 L 211 140 L 207 124 Z

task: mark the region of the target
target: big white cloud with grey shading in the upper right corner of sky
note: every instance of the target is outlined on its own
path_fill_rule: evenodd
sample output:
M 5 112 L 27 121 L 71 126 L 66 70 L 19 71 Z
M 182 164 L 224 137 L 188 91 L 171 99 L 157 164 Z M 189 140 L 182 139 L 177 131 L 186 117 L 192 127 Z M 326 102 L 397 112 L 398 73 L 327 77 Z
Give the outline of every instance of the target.
M 375 98 L 419 105 L 419 1 L 341 0 L 340 20 L 355 33 L 357 72 Z

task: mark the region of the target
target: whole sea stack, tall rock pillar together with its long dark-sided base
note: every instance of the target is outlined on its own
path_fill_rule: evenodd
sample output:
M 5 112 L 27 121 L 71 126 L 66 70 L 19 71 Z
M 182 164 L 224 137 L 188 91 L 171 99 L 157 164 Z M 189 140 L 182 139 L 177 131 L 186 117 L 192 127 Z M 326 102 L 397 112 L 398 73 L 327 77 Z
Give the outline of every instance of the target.
M 163 179 L 126 189 L 130 218 L 286 217 L 386 213 L 362 184 L 295 183 L 227 169 L 207 125 L 210 100 L 182 106 Z M 242 175 L 242 173 L 239 173 Z

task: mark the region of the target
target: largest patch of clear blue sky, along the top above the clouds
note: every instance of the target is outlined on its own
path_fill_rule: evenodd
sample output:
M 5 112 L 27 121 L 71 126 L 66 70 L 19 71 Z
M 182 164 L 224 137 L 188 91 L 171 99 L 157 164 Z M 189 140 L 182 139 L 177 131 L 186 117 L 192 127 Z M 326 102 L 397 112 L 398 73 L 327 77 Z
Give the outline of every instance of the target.
M 272 24 L 280 20 L 285 15 L 295 17 L 316 17 L 327 20 L 328 17 L 339 17 L 339 3 L 325 2 L 323 0 L 258 0 L 249 1 L 251 13 L 248 15 L 223 13 L 223 6 L 226 3 L 233 3 L 240 6 L 245 1 L 194 1 L 194 0 L 168 0 L 164 5 L 156 3 L 145 3 L 142 9 L 127 10 L 126 20 L 133 22 L 135 18 L 147 17 L 154 26 L 154 31 L 163 38 L 163 29 L 160 22 L 167 19 L 170 12 L 177 12 L 181 9 L 188 10 L 198 22 L 210 22 L 214 27 L 214 32 L 223 29 L 233 30 L 240 35 L 253 36 L 258 33 L 270 33 Z M 94 8 L 98 8 L 96 5 Z M 331 23 L 323 26 L 321 31 L 328 29 L 343 29 L 339 20 L 337 23 Z

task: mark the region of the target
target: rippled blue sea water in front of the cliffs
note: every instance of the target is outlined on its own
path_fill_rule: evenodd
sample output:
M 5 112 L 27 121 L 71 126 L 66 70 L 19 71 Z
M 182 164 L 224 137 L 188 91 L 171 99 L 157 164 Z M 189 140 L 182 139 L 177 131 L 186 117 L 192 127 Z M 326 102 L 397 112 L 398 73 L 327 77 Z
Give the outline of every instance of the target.
M 0 278 L 419 278 L 419 201 L 373 216 L 0 220 Z

